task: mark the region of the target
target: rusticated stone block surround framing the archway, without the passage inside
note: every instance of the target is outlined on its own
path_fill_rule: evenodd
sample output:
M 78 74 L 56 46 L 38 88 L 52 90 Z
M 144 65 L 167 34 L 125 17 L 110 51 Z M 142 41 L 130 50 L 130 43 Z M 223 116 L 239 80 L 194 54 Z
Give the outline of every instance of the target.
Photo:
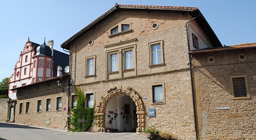
M 145 107 L 142 101 L 141 96 L 137 93 L 136 90 L 133 90 L 131 87 L 127 87 L 126 89 L 117 89 L 114 87 L 110 90 L 107 90 L 107 95 L 101 96 L 101 101 L 97 106 L 97 115 L 98 115 L 98 132 L 105 132 L 105 123 L 106 123 L 106 107 L 108 101 L 113 98 L 115 95 L 128 95 L 135 102 L 137 109 L 137 123 L 138 128 L 137 132 L 141 132 L 141 130 L 145 129 Z

